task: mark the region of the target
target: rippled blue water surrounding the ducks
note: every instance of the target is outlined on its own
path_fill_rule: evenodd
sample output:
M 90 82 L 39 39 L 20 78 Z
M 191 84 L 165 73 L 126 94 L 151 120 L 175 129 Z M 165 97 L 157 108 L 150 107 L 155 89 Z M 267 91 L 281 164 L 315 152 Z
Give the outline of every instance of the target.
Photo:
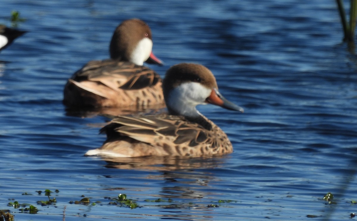
M 357 57 L 342 42 L 335 1 L 1 0 L 1 23 L 10 25 L 11 10 L 29 31 L 0 54 L 0 209 L 16 221 L 63 220 L 64 210 L 66 221 L 350 220 L 357 212 Z M 107 118 L 67 113 L 64 84 L 89 60 L 108 58 L 113 30 L 134 17 L 150 25 L 166 64 L 149 67 L 163 77 L 176 63 L 206 65 L 220 92 L 245 108 L 199 107 L 227 132 L 232 154 L 83 156 L 105 140 L 98 131 Z M 36 192 L 46 189 L 55 205 L 36 203 L 48 200 Z M 119 193 L 139 208 L 109 205 Z M 96 205 L 70 203 L 83 197 Z M 39 211 L 7 206 L 14 201 Z

